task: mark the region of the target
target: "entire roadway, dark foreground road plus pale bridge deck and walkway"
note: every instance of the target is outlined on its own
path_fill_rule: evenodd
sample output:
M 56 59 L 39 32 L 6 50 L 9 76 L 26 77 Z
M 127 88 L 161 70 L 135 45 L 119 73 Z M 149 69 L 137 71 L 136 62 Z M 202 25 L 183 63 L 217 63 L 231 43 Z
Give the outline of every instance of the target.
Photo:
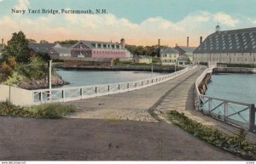
M 64 119 L 1 117 L 0 160 L 241 160 L 158 122 L 169 109 L 191 108 L 188 93 L 203 70 L 150 88 L 69 102 L 80 111 Z

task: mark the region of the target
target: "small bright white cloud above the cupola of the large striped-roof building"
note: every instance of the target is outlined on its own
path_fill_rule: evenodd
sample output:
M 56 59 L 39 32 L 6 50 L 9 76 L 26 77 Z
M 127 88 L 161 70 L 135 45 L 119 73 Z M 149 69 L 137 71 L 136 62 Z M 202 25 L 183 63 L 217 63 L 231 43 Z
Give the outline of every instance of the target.
M 235 27 L 239 23 L 238 19 L 233 19 L 230 15 L 224 13 L 215 14 L 214 20 L 230 27 Z

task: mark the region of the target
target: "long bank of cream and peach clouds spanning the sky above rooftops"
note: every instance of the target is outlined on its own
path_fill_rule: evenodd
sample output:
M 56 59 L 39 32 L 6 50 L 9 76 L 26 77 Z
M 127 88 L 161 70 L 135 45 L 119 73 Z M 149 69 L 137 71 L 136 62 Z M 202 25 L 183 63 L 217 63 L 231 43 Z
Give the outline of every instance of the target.
M 20 0 L 17 6 L 25 8 L 29 4 L 28 0 Z M 3 29 L 3 37 L 7 39 L 13 32 L 22 30 L 26 37 L 37 41 L 78 39 L 119 42 L 124 37 L 128 44 L 153 45 L 160 38 L 161 44 L 174 46 L 176 43 L 185 45 L 189 36 L 189 45 L 197 46 L 199 37 L 207 37 L 214 32 L 217 23 L 221 30 L 231 30 L 256 25 L 256 19 L 207 11 L 190 13 L 177 22 L 157 16 L 140 23 L 114 14 L 42 14 L 38 17 L 9 14 L 0 18 L 0 29 Z

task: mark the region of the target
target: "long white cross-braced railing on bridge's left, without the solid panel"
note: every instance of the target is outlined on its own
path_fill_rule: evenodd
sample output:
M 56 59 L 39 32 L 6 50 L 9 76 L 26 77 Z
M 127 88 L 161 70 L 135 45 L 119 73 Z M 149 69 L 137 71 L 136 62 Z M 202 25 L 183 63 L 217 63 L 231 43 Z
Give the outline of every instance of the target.
M 118 82 L 110 84 L 101 84 L 93 86 L 82 86 L 73 88 L 53 88 L 53 89 L 38 89 L 32 90 L 33 105 L 39 105 L 48 102 L 67 102 L 79 99 L 88 99 L 102 95 L 113 93 L 124 93 L 140 88 L 147 88 L 149 86 L 166 82 L 176 76 L 182 75 L 186 71 L 195 69 L 195 66 L 188 66 L 181 71 L 176 71 L 164 76 L 156 76 L 152 78 L 143 79 L 134 82 Z

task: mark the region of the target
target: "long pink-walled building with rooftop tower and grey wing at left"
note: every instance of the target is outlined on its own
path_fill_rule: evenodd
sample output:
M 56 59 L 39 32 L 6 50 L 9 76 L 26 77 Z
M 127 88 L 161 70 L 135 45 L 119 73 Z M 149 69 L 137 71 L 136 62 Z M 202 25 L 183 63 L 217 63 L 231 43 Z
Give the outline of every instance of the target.
M 97 42 L 97 41 L 79 41 L 71 47 L 55 46 L 49 50 L 52 59 L 59 57 L 72 58 L 111 58 L 128 59 L 131 53 L 125 48 L 125 39 L 118 42 Z

